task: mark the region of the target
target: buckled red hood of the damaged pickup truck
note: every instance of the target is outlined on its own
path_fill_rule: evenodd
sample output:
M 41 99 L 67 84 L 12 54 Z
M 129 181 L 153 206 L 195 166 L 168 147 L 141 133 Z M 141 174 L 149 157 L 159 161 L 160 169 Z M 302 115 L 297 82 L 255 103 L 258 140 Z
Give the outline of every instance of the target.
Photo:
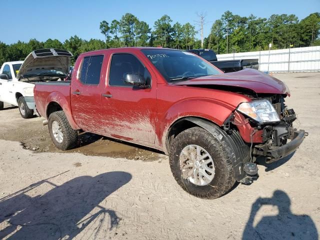
M 275 93 L 290 95 L 287 86 L 261 71 L 245 68 L 240 71 L 202 76 L 187 81 L 173 83 L 174 85 L 224 85 L 251 89 L 256 93 Z

